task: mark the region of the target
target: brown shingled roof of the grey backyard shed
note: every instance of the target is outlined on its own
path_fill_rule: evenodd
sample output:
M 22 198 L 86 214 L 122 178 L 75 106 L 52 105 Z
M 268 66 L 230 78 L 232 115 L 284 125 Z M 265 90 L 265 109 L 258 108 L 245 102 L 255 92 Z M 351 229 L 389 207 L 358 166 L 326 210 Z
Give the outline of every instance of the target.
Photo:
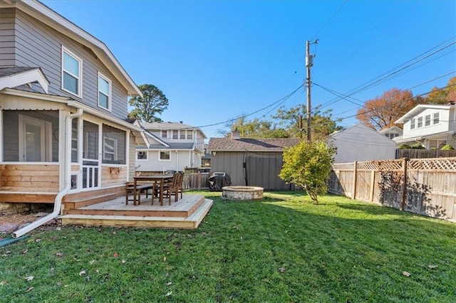
M 283 151 L 284 147 L 294 147 L 299 142 L 300 139 L 291 138 L 210 138 L 207 149 L 210 151 Z

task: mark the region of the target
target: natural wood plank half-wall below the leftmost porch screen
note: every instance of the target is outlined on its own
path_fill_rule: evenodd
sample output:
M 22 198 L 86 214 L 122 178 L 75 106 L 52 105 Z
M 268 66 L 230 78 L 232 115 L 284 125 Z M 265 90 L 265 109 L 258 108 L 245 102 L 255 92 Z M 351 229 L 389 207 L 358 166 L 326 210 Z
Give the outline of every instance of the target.
M 57 193 L 59 166 L 53 164 L 0 165 L 1 191 Z

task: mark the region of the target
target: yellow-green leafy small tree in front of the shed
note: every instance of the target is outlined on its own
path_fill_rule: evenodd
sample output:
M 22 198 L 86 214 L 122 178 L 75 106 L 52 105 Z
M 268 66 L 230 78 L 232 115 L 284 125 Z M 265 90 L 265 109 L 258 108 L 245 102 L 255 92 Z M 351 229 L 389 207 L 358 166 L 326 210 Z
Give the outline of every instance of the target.
M 284 165 L 280 179 L 302 186 L 312 201 L 318 204 L 318 195 L 326 193 L 326 181 L 331 173 L 333 155 L 336 152 L 324 141 L 301 141 L 284 150 Z

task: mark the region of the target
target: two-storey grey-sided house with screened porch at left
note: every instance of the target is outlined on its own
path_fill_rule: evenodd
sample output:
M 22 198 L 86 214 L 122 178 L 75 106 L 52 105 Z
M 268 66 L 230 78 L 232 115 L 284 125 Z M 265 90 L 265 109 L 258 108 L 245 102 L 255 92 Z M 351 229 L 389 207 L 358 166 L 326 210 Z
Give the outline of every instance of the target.
M 39 1 L 0 0 L 0 202 L 125 194 L 142 142 L 129 95 L 102 41 Z

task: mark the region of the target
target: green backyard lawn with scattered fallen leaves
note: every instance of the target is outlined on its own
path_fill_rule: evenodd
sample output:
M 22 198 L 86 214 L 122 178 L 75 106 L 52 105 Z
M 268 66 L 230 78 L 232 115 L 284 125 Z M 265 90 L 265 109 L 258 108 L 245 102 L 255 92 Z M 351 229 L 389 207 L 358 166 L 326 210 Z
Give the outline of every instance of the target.
M 0 301 L 456 300 L 455 223 L 331 195 L 202 194 L 197 230 L 53 226 L 0 248 Z

